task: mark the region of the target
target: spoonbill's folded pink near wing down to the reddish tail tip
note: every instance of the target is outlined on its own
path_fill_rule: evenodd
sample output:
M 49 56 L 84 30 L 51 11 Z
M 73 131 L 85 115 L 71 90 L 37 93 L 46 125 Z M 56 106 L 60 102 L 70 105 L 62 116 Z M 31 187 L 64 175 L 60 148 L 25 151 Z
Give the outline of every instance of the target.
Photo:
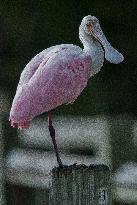
M 79 47 L 78 47 L 79 48 Z M 54 49 L 52 49 L 54 50 Z M 43 112 L 72 103 L 86 87 L 91 75 L 91 57 L 82 49 L 50 50 L 34 67 L 26 68 L 13 100 L 10 120 L 13 126 L 27 127 Z

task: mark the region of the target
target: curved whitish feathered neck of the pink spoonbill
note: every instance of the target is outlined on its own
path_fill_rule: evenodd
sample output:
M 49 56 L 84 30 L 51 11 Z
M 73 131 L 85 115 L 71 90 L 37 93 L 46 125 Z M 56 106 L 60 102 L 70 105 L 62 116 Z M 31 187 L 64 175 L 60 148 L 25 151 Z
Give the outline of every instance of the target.
M 101 44 L 84 32 L 79 33 L 79 38 L 84 46 L 84 53 L 90 55 L 92 58 L 93 74 L 98 73 L 104 62 L 104 51 Z

